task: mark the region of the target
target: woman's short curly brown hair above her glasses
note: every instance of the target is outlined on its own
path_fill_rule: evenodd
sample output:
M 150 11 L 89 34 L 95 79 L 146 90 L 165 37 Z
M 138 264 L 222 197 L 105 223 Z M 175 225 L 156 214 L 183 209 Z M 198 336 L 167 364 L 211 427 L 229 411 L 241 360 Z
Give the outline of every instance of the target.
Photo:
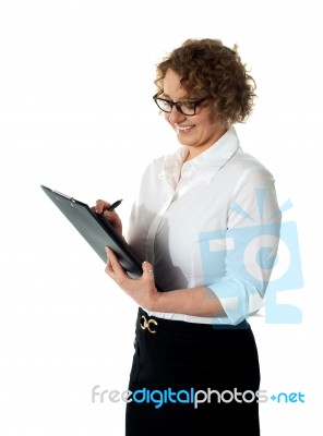
M 188 39 L 156 65 L 157 94 L 170 69 L 180 76 L 186 98 L 206 98 L 214 114 L 225 124 L 244 122 L 252 112 L 255 82 L 232 49 L 219 39 Z

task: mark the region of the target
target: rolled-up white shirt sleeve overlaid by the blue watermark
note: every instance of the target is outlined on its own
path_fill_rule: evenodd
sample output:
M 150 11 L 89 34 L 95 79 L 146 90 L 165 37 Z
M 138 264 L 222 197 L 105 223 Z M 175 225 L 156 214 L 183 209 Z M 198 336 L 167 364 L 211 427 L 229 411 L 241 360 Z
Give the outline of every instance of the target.
M 246 170 L 230 202 L 227 229 L 201 234 L 206 282 L 213 265 L 225 274 L 207 287 L 219 299 L 230 324 L 238 324 L 263 305 L 279 244 L 280 213 L 274 180 L 263 170 Z M 206 243 L 207 241 L 207 243 Z

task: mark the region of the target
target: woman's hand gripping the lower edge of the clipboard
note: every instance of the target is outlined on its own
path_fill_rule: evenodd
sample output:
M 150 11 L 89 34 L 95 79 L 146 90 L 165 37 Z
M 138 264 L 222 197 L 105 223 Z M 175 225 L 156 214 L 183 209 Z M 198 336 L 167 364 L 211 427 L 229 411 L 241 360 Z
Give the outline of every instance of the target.
M 140 306 L 153 311 L 159 292 L 155 286 L 152 264 L 143 262 L 143 275 L 139 279 L 131 279 L 120 265 L 112 250 L 106 247 L 106 252 L 108 255 L 106 265 L 107 275 Z

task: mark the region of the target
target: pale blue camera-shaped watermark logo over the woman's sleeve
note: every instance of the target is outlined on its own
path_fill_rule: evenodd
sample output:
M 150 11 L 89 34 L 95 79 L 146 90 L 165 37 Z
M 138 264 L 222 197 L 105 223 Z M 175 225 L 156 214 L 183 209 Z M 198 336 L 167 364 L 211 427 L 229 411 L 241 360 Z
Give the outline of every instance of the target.
M 288 199 L 265 217 L 266 190 L 255 190 L 255 196 L 258 217 L 237 203 L 231 205 L 231 211 L 250 225 L 200 233 L 204 280 L 211 289 L 214 286 L 219 298 L 237 300 L 237 314 L 252 313 L 252 304 L 256 311 L 265 295 L 266 323 L 299 324 L 301 310 L 277 301 L 279 292 L 303 287 L 297 225 L 280 222 L 283 214 L 292 204 Z M 246 290 L 250 296 L 248 307 Z M 234 319 L 235 316 L 232 311 Z

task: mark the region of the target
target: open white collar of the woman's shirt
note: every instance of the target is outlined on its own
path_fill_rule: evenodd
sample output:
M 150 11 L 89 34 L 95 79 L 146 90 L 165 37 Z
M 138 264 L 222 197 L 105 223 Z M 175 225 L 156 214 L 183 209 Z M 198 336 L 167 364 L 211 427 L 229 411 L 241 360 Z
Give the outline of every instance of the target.
M 184 164 L 183 160 L 188 154 L 187 146 L 181 146 L 172 155 L 167 155 L 159 175 L 165 177 L 171 185 L 176 185 L 181 173 L 193 169 L 195 172 L 200 172 L 206 182 L 210 183 L 219 169 L 225 166 L 239 148 L 239 138 L 236 130 L 235 128 L 230 128 L 210 148 Z

